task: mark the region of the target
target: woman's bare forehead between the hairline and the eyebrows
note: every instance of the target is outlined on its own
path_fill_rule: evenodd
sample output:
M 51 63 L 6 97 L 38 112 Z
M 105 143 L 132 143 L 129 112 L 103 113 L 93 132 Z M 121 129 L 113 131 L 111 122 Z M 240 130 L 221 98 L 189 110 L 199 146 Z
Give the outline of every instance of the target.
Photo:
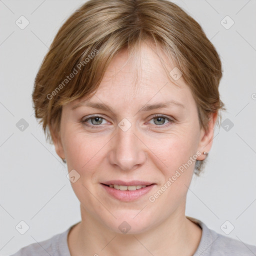
M 176 81 L 170 77 L 168 72 L 174 67 L 175 64 L 152 45 L 141 44 L 133 55 L 123 49 L 112 58 L 98 88 L 89 99 L 109 104 L 120 101 L 127 104 L 161 102 L 171 99 L 184 104 L 193 103 L 190 89 L 182 76 Z M 83 100 L 84 97 L 72 105 Z

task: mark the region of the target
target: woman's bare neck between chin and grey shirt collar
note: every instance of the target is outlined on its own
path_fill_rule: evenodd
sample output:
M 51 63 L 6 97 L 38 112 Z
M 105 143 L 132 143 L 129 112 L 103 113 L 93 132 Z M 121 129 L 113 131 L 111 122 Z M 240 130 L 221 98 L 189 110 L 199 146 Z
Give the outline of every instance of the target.
M 201 228 L 186 218 L 185 206 L 161 223 L 136 234 L 109 230 L 81 206 L 81 222 L 68 234 L 71 256 L 76 255 L 192 255 L 201 239 Z

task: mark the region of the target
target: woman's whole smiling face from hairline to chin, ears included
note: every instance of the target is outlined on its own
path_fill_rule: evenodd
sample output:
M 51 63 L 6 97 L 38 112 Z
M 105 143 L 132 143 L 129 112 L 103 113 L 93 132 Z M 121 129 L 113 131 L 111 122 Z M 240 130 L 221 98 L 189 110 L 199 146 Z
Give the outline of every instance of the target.
M 195 159 L 204 159 L 212 134 L 200 130 L 196 104 L 182 76 L 176 81 L 179 87 L 174 85 L 146 44 L 137 60 L 127 61 L 127 56 L 123 50 L 111 61 L 90 99 L 63 106 L 61 140 L 55 148 L 72 170 L 82 216 L 112 231 L 139 233 L 171 216 L 184 217 Z M 150 107 L 157 104 L 166 106 Z M 145 182 L 152 185 L 139 188 Z M 118 190 L 104 185 L 109 183 L 138 187 Z

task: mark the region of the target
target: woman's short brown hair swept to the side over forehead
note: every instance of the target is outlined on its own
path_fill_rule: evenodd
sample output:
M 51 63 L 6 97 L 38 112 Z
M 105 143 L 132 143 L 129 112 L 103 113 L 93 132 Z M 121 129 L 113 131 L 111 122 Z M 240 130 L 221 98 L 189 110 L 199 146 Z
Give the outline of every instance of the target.
M 95 91 L 111 59 L 142 40 L 159 44 L 181 70 L 207 130 L 208 114 L 225 108 L 220 58 L 201 26 L 167 0 L 89 0 L 60 27 L 35 77 L 33 107 L 46 140 L 59 132 L 61 106 Z M 196 161 L 197 175 L 202 163 Z

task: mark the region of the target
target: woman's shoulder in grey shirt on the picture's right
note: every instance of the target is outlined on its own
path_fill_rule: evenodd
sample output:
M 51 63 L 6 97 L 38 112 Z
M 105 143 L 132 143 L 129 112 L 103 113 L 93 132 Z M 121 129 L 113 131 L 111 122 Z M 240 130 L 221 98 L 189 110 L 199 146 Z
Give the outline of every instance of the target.
M 202 228 L 202 236 L 193 256 L 255 256 L 256 246 L 209 229 L 202 221 L 188 217 Z

